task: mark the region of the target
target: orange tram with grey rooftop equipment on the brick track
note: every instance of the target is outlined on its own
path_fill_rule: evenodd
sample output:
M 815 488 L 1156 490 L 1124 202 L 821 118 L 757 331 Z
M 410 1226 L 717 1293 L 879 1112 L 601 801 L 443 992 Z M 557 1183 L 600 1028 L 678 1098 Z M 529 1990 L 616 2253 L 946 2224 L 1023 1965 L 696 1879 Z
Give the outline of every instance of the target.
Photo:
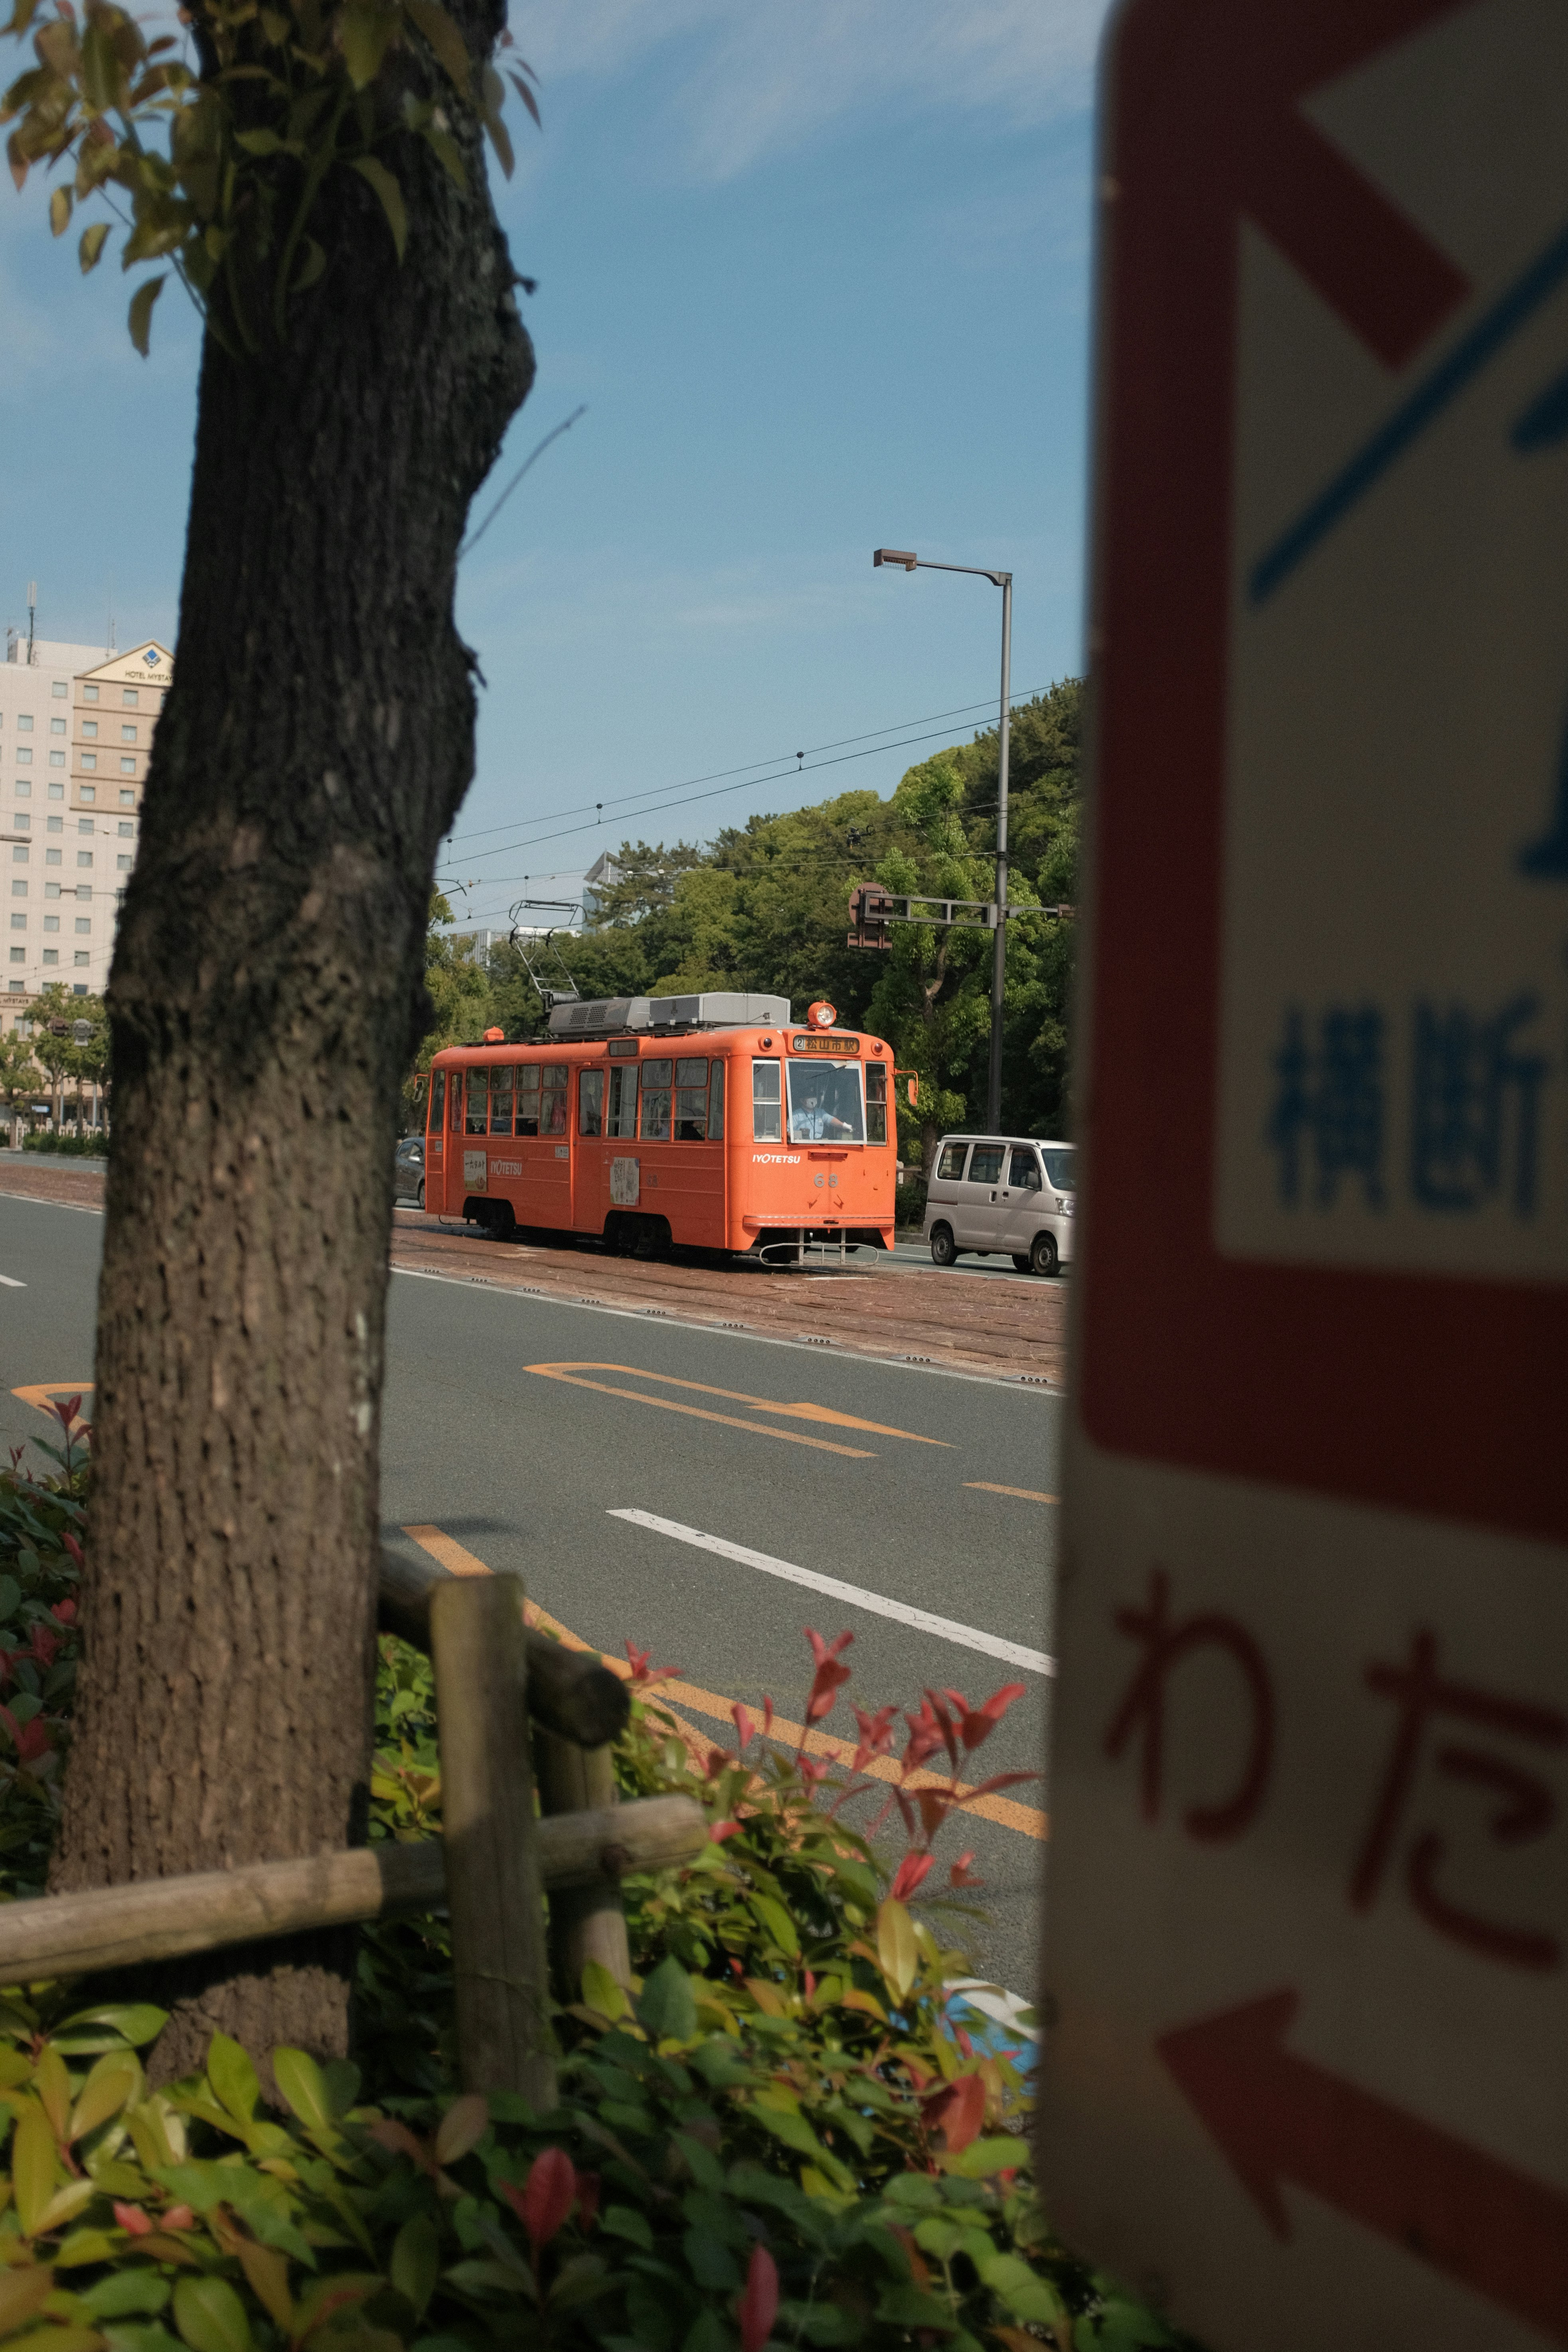
M 621 1251 L 891 1249 L 896 1077 L 832 1004 L 792 1021 L 788 997 L 741 993 L 555 1002 L 543 1044 L 435 1056 L 425 1207 Z

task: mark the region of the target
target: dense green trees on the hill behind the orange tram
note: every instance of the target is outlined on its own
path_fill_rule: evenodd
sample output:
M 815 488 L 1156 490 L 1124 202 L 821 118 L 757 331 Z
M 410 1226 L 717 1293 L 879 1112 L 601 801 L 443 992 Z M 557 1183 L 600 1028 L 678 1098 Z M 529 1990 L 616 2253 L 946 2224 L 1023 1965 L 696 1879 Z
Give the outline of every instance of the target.
M 1077 898 L 1077 677 L 1013 713 L 1009 835 L 1011 903 Z M 562 936 L 585 997 L 752 988 L 804 1014 L 830 997 L 842 1021 L 884 1035 L 919 1073 L 919 1112 L 900 1117 L 905 1157 L 945 1127 L 985 1117 L 990 934 L 896 929 L 886 953 L 849 948 L 849 891 L 889 889 L 990 898 L 997 851 L 997 729 L 922 760 L 891 800 L 842 793 L 788 816 L 752 816 L 708 847 L 623 844 L 621 882 L 597 920 Z M 489 1023 L 534 1037 L 543 1011 L 515 948 L 489 969 L 451 941 L 433 943 L 437 1044 Z M 1009 924 L 1001 1117 L 1016 1134 L 1067 1134 L 1067 978 L 1072 924 L 1044 915 Z

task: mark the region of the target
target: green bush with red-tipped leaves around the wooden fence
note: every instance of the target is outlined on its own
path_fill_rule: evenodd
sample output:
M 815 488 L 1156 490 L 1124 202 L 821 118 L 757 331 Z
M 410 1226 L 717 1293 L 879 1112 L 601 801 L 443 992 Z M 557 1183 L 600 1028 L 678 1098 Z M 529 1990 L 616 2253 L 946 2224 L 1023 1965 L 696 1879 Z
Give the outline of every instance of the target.
M 0 1860 L 42 1884 L 75 1675 L 82 1444 L 56 1406 L 54 1470 L 0 1475 Z M 846 1679 L 816 1642 L 811 1710 Z M 630 1644 L 628 1644 L 630 1646 Z M 216 2034 L 202 2074 L 148 2089 L 153 2006 L 113 1987 L 0 1994 L 0 2343 L 28 2352 L 764 2352 L 945 2345 L 1135 2352 L 1175 2338 L 1074 2263 L 1030 2185 L 1025 2084 L 945 2016 L 969 1962 L 966 1860 L 914 1917 L 945 1790 L 830 1778 L 745 1710 L 698 1773 L 632 1651 L 628 1795 L 686 1790 L 703 1856 L 630 1879 L 635 1985 L 588 1969 L 555 2016 L 559 2105 L 454 2096 L 442 1915 L 362 1938 L 357 2065 Z M 1009 1693 L 905 1717 L 907 1773 L 959 1764 Z M 856 1710 L 860 1757 L 896 1710 Z M 1001 1776 L 1016 1778 L 1016 1776 Z M 910 1844 L 893 1891 L 856 1804 Z M 371 1837 L 440 1823 L 430 1668 L 381 1642 Z M 947 1905 L 947 1907 L 943 1907 Z M 96 1994 L 96 1997 L 94 1997 Z

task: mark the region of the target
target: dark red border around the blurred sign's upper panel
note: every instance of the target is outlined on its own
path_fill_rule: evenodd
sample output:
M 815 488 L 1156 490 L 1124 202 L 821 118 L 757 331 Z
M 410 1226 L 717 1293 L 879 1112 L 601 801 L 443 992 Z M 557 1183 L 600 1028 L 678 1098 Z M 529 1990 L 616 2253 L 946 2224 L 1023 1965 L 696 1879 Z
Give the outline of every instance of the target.
M 1258 0 L 1133 0 L 1114 33 L 1079 1392 L 1117 1454 L 1563 1541 L 1566 1289 L 1213 1247 L 1239 216 L 1366 341 L 1382 332 L 1385 360 L 1408 355 L 1425 329 L 1399 299 L 1380 310 L 1375 240 L 1333 252 L 1354 174 L 1333 167 L 1319 202 L 1295 99 L 1453 5 L 1321 0 L 1302 21 Z

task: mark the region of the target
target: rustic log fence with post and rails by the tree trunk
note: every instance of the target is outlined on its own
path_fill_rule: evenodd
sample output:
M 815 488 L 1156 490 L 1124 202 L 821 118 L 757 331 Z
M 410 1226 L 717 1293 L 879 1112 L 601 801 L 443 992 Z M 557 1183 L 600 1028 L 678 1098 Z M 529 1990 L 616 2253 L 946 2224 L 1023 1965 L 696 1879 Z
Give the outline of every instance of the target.
M 444 1905 L 463 2089 L 550 2107 L 550 1964 L 567 1997 L 590 1959 L 630 1983 L 621 1879 L 691 1860 L 708 1828 L 691 1797 L 616 1804 L 625 1682 L 522 1604 L 517 1576 L 381 1557 L 381 1625 L 435 1665 L 442 1837 L 0 1905 L 0 1985 Z

